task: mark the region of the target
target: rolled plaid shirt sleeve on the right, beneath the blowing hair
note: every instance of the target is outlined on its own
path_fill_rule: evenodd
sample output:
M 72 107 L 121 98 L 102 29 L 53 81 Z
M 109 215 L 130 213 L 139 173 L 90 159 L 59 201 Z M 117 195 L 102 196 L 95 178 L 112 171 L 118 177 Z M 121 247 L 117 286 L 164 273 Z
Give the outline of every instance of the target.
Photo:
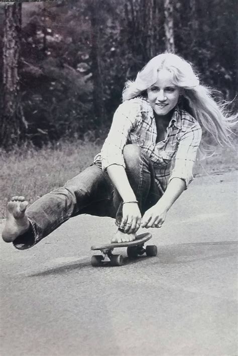
M 202 130 L 198 123 L 195 123 L 188 131 L 179 134 L 179 145 L 175 157 L 175 165 L 169 182 L 173 178 L 183 179 L 186 187 L 194 179 L 193 166 L 196 160 L 197 150 L 201 141 Z

